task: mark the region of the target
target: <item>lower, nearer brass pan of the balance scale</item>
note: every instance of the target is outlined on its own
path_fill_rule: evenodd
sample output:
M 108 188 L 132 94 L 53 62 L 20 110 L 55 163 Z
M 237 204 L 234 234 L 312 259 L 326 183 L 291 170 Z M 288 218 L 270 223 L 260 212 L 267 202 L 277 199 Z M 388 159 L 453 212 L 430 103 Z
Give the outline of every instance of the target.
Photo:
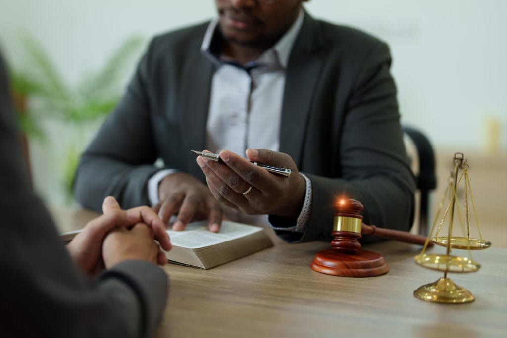
M 414 260 L 421 267 L 437 271 L 475 272 L 481 268 L 478 262 L 470 258 L 438 253 L 419 254 Z

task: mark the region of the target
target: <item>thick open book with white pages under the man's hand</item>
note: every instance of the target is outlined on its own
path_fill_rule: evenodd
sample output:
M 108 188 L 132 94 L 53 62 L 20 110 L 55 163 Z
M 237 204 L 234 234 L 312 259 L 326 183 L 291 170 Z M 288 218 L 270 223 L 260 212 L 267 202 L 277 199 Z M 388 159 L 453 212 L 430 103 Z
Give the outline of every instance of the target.
M 191 222 L 184 231 L 167 230 L 172 249 L 165 253 L 169 261 L 201 269 L 210 269 L 231 260 L 273 246 L 263 228 L 228 220 L 219 233 L 208 230 L 208 221 Z

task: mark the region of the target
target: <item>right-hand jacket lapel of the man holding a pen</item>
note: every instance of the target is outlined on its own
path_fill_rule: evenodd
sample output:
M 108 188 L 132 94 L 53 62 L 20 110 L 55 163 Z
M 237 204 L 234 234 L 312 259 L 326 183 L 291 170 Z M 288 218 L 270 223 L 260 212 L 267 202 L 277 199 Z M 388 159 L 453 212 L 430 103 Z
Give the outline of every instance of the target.
M 307 13 L 288 61 L 280 126 L 280 152 L 291 155 L 298 167 L 305 142 L 310 104 L 314 95 L 322 57 L 317 23 Z

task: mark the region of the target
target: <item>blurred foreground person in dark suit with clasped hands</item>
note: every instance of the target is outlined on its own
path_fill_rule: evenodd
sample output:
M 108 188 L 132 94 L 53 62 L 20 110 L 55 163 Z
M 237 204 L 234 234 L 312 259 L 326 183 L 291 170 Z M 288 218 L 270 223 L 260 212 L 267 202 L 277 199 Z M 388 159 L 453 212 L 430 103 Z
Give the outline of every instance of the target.
M 164 224 L 146 206 L 121 210 L 108 197 L 65 250 L 30 187 L 10 99 L 0 56 L 0 336 L 151 335 L 168 292 L 154 241 L 171 248 Z

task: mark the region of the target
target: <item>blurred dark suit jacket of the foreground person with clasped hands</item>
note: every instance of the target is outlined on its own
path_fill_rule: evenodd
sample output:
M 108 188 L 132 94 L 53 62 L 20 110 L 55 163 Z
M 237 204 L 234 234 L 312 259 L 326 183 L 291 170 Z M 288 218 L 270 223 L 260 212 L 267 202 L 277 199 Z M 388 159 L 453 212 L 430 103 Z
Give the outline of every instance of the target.
M 0 154 L 0 336 L 150 335 L 165 309 L 166 274 L 142 261 L 93 281 L 76 269 L 29 185 L 1 56 Z

